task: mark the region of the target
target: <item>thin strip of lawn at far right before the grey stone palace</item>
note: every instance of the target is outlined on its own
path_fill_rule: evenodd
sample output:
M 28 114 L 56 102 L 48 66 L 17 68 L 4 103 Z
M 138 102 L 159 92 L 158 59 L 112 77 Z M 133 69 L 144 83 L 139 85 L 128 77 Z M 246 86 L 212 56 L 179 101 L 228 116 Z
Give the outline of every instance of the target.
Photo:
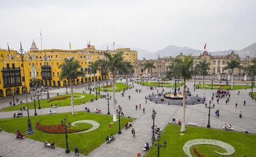
M 202 89 L 201 87 L 202 87 L 202 84 L 200 84 L 200 83 L 198 83 L 198 84 L 196 84 L 196 86 L 198 86 L 199 87 L 199 89 Z M 247 89 L 250 89 L 252 86 L 251 85 L 233 85 L 233 89 L 232 90 L 239 90 L 239 89 L 244 89 L 244 87 L 246 87 Z M 222 88 L 222 89 L 224 89 L 224 90 L 226 90 L 226 89 L 231 89 L 231 85 L 224 85 L 224 84 L 204 84 L 204 88 L 206 88 L 206 89 L 211 89 L 211 88 L 213 88 L 213 89 L 218 89 L 218 88 Z M 256 88 L 256 86 L 253 86 L 253 88 Z

